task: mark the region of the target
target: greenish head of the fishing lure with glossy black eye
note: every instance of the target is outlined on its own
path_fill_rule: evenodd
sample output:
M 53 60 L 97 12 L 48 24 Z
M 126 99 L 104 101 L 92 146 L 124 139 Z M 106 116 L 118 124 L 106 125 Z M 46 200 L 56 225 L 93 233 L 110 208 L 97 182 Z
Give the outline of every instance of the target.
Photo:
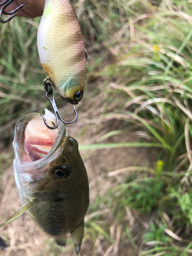
M 78 77 L 70 77 L 61 86 L 63 98 L 71 104 L 78 104 L 83 97 L 84 82 Z

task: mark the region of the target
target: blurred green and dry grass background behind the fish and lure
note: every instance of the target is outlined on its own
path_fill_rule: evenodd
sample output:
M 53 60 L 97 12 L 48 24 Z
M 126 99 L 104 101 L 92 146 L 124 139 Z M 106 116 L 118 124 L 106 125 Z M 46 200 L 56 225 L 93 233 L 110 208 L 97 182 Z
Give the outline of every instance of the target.
M 87 48 L 87 81 L 67 126 L 90 181 L 80 255 L 192 255 L 192 1 L 72 2 Z M 3 222 L 20 202 L 14 125 L 50 108 L 37 54 L 39 18 L 0 25 L 0 166 Z M 72 106 L 56 95 L 61 116 Z M 75 255 L 28 218 L 0 230 L 0 255 Z

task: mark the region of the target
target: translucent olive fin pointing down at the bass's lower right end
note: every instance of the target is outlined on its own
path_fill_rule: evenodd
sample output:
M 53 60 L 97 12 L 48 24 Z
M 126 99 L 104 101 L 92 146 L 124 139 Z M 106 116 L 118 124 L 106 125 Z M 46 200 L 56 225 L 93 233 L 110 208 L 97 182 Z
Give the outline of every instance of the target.
M 84 221 L 71 232 L 71 238 L 75 247 L 76 254 L 80 251 L 81 241 L 84 233 Z

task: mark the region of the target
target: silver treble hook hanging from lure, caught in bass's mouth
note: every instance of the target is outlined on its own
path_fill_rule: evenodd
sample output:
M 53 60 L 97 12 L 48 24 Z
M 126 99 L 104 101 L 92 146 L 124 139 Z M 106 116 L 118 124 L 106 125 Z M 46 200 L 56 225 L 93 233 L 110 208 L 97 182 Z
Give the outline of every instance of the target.
M 48 100 L 49 100 L 50 103 L 51 103 L 52 109 L 53 109 L 53 111 L 54 111 L 54 113 L 55 113 L 55 117 L 56 117 L 56 120 L 57 120 L 57 124 L 56 124 L 55 127 L 49 126 L 48 123 L 47 123 L 47 121 L 46 121 L 46 119 L 45 119 L 45 117 L 44 117 L 44 115 L 41 114 L 42 119 L 44 119 L 45 125 L 46 125 L 49 129 L 52 129 L 52 130 L 53 130 L 53 129 L 56 129 L 56 128 L 58 127 L 58 125 L 59 125 L 59 119 L 61 120 L 61 122 L 67 123 L 67 124 L 75 122 L 75 121 L 77 120 L 78 115 L 77 115 L 77 111 L 76 111 L 74 105 L 73 105 L 73 109 L 74 109 L 74 112 L 75 112 L 75 119 L 74 119 L 73 121 L 71 121 L 71 122 L 65 122 L 65 121 L 62 120 L 62 118 L 61 118 L 61 116 L 60 116 L 60 114 L 59 114 L 59 111 L 58 111 L 58 109 L 57 109 L 57 105 L 56 105 L 56 103 L 55 103 L 55 97 L 54 97 L 54 94 L 53 94 L 52 85 L 51 85 L 50 82 L 47 82 L 47 80 L 49 80 L 49 78 L 44 79 L 44 87 L 45 87 L 46 97 L 48 98 Z M 52 99 L 50 99 L 48 95 L 52 95 Z

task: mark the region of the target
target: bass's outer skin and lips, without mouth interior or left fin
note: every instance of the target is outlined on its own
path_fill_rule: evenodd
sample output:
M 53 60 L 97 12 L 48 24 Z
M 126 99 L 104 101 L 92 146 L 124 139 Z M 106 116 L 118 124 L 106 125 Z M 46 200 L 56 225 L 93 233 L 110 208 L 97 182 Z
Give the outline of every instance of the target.
M 78 254 L 83 237 L 83 220 L 89 205 L 89 183 L 78 143 L 69 137 L 59 121 L 58 135 L 49 154 L 37 161 L 24 161 L 25 129 L 39 114 L 27 115 L 15 126 L 15 181 L 22 204 L 34 201 L 28 214 L 49 236 L 61 241 L 71 232 Z M 44 125 L 45 126 L 45 125 Z M 64 170 L 66 177 L 55 177 L 54 170 Z

